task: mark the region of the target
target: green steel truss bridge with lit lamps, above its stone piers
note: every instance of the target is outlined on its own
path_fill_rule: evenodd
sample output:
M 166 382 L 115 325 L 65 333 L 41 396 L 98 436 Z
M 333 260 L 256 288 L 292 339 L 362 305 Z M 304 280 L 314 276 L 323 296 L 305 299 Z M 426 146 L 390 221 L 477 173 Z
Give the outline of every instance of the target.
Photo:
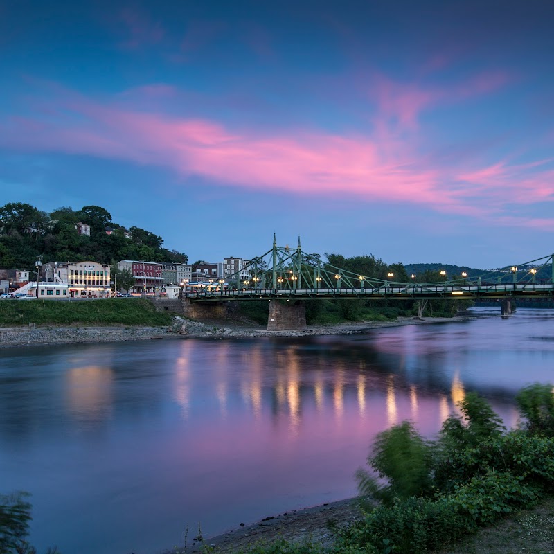
M 206 289 L 186 292 L 191 303 L 309 298 L 495 300 L 554 298 L 554 254 L 519 265 L 508 265 L 479 276 L 461 276 L 434 283 L 400 283 L 346 271 L 322 262 L 319 255 L 298 247 L 273 247 L 234 274 L 211 280 Z M 537 274 L 548 278 L 537 279 Z M 415 276 L 414 276 L 415 277 Z M 219 283 L 219 286 L 218 286 Z

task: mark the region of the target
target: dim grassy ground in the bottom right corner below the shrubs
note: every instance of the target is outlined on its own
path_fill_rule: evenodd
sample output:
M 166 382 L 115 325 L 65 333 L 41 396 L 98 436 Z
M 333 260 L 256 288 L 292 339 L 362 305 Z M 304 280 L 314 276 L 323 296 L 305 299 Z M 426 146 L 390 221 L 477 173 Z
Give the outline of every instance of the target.
M 435 554 L 551 554 L 554 552 L 554 497 Z

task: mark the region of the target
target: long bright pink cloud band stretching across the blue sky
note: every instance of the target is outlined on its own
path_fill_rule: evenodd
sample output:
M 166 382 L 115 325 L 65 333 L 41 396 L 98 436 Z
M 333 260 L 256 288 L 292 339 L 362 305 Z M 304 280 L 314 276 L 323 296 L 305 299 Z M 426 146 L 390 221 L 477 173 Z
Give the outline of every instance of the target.
M 383 91 L 388 86 L 384 83 Z M 314 129 L 260 132 L 128 107 L 140 98 L 175 93 L 163 84 L 132 89 L 111 104 L 52 89 L 55 100 L 35 105 L 33 118 L 12 117 L 0 123 L 0 146 L 161 166 L 185 181 L 195 175 L 220 186 L 404 202 L 472 217 L 499 218 L 510 203 L 554 200 L 554 170 L 546 168 L 549 159 L 481 167 L 461 160 L 458 166 L 446 166 L 431 153 L 418 152 L 413 133 L 400 138 L 384 120 L 369 136 Z M 392 90 L 388 113 L 401 114 L 406 125 L 440 98 L 438 93 L 408 91 L 402 96 Z M 133 101 L 122 107 L 122 98 Z

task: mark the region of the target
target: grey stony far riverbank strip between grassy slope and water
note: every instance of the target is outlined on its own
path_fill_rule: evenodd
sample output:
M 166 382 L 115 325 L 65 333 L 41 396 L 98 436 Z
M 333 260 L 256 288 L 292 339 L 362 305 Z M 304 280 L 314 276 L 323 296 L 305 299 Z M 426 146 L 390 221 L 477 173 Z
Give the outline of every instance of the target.
M 175 317 L 172 325 L 152 326 L 30 326 L 0 327 L 0 346 L 21 346 L 33 344 L 98 343 L 118 341 L 139 341 L 148 339 L 184 338 L 244 338 L 244 337 L 310 337 L 317 335 L 363 334 L 373 329 L 400 327 L 402 325 L 426 325 L 465 321 L 470 316 L 407 318 L 397 321 L 364 321 L 341 323 L 339 325 L 314 325 L 305 329 L 288 331 L 267 331 L 258 325 L 221 325 L 221 322 L 202 323 Z

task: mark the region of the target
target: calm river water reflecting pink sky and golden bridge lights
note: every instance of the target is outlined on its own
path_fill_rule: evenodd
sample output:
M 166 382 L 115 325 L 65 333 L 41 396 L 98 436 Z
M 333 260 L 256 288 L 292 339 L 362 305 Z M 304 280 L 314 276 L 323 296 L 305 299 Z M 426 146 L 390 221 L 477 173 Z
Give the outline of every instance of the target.
M 143 341 L 0 351 L 0 492 L 33 493 L 43 552 L 153 554 L 355 494 L 376 433 L 434 436 L 464 391 L 515 425 L 554 381 L 554 312 L 352 337 Z M 489 315 L 489 316 L 487 316 Z

